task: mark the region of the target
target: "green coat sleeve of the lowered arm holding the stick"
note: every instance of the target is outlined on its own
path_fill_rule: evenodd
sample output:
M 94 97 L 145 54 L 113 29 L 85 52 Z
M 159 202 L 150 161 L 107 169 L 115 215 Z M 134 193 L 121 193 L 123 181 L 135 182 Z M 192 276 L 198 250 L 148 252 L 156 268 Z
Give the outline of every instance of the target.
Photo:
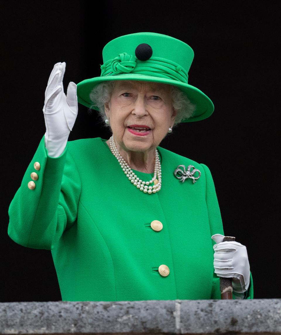
M 201 163 L 200 165 L 203 167 L 205 175 L 206 175 L 206 204 L 208 208 L 211 236 L 214 234 L 224 235 L 219 203 L 218 203 L 215 185 L 214 185 L 211 172 L 208 166 L 206 166 L 205 164 Z M 212 240 L 212 243 L 214 245 L 215 241 Z M 220 298 L 221 298 L 220 278 L 214 272 L 211 299 L 220 299 Z M 246 292 L 245 299 L 253 299 L 253 298 L 254 298 L 254 288 L 253 288 L 253 282 L 252 282 L 252 274 L 250 273 L 250 285 Z M 233 294 L 233 299 L 235 299 L 234 294 Z

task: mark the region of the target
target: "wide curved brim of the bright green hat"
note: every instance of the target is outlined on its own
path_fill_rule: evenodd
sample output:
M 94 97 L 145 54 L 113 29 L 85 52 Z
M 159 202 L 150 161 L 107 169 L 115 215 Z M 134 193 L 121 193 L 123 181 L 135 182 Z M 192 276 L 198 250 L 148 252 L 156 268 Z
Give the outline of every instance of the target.
M 180 81 L 153 77 L 144 74 L 127 74 L 121 73 L 114 76 L 105 76 L 105 77 L 95 77 L 91 79 L 85 79 L 77 84 L 77 98 L 78 102 L 86 107 L 92 108 L 94 110 L 99 110 L 98 107 L 93 106 L 93 102 L 90 99 L 90 93 L 92 89 L 104 81 L 109 80 L 139 80 L 139 81 L 151 81 L 159 82 L 163 84 L 169 84 L 179 87 L 189 98 L 192 104 L 196 105 L 196 110 L 193 112 L 193 116 L 187 119 L 181 120 L 181 122 L 192 122 L 200 121 L 208 118 L 214 112 L 214 104 L 211 99 L 204 94 L 200 89 L 185 84 Z

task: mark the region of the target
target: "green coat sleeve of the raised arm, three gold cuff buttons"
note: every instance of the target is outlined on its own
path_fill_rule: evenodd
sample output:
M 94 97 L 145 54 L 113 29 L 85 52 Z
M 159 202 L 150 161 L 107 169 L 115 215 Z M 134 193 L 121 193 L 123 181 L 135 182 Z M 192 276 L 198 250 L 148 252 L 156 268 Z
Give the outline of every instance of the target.
M 76 221 L 81 182 L 68 146 L 59 157 L 50 157 L 43 136 L 10 203 L 8 235 L 24 247 L 51 250 Z M 38 171 L 35 162 L 41 165 Z M 38 174 L 34 190 L 27 187 L 32 172 Z

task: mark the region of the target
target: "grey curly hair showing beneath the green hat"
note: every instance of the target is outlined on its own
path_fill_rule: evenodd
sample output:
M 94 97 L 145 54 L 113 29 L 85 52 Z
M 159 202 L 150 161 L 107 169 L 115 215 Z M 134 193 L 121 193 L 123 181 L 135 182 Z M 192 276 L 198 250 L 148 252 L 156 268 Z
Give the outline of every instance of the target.
M 104 104 L 110 101 L 111 94 L 114 89 L 114 83 L 116 83 L 116 80 L 104 81 L 95 86 L 90 93 L 90 99 L 93 102 L 93 105 L 91 105 L 90 108 L 94 109 L 94 107 L 98 107 L 98 112 L 103 121 L 105 121 L 107 118 L 104 110 Z M 196 109 L 196 105 L 192 104 L 187 96 L 177 86 L 169 86 L 172 97 L 172 105 L 173 108 L 177 111 L 177 116 L 174 123 L 175 126 L 180 123 L 182 119 L 190 118 Z M 92 111 L 90 110 L 89 113 L 92 113 Z

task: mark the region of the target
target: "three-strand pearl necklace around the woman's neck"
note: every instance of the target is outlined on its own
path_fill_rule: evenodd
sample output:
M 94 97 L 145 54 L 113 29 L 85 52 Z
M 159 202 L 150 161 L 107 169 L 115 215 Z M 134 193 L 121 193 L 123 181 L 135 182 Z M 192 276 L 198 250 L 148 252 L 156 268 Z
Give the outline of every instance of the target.
M 119 165 L 121 165 L 121 169 L 124 171 L 124 174 L 129 179 L 129 181 L 136 186 L 140 191 L 144 193 L 156 193 L 161 189 L 161 164 L 159 159 L 159 154 L 157 149 L 155 149 L 155 166 L 154 166 L 154 176 L 150 181 L 142 181 L 137 177 L 137 175 L 131 171 L 129 164 L 125 161 L 125 159 L 120 155 L 117 150 L 113 135 L 109 139 L 109 146 L 111 152 L 117 158 Z M 158 178 L 158 179 L 157 179 Z M 154 183 L 153 186 L 150 184 Z

